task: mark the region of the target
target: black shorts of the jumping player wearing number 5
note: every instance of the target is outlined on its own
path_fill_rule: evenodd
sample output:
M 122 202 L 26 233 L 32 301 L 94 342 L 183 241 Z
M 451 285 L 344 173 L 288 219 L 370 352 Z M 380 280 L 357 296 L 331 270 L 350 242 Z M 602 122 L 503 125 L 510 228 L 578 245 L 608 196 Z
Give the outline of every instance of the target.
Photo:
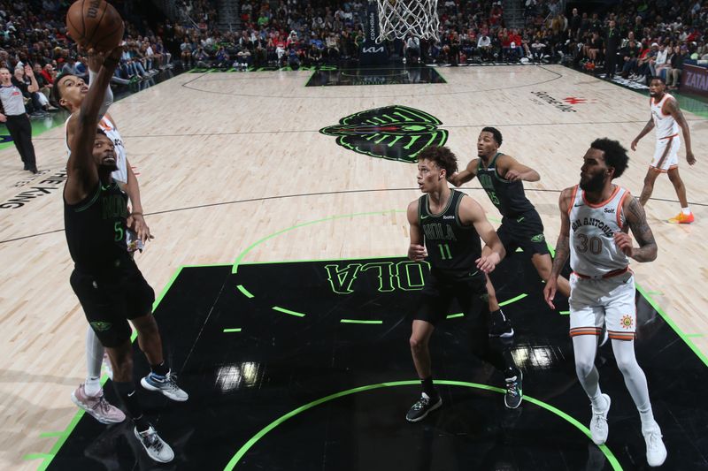
M 70 280 L 86 319 L 103 346 L 123 344 L 130 338 L 128 319 L 152 312 L 155 292 L 140 270 L 110 282 L 73 270 Z

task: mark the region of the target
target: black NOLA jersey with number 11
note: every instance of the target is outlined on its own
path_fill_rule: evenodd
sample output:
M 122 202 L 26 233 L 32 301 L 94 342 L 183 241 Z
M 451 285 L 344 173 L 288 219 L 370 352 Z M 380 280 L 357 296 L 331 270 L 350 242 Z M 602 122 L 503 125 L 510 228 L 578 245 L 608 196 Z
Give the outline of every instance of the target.
M 450 190 L 445 209 L 439 214 L 430 212 L 429 197 L 418 201 L 418 223 L 423 232 L 427 261 L 433 269 L 456 277 L 479 274 L 476 260 L 481 257 L 481 240 L 473 225 L 462 225 L 459 204 L 466 194 Z

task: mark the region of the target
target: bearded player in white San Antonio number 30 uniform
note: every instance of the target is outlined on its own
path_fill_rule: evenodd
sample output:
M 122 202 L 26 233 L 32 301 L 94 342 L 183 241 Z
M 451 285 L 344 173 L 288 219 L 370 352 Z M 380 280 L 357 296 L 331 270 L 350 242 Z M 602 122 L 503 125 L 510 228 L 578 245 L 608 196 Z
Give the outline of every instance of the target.
M 647 462 L 659 466 L 666 460 L 666 446 L 651 412 L 646 376 L 635 358 L 635 278 L 628 267 L 628 257 L 637 262 L 656 259 L 657 244 L 642 205 L 626 189 L 612 184 L 627 168 L 627 149 L 618 141 L 598 139 L 583 159 L 580 185 L 566 188 L 560 195 L 556 258 L 543 294 L 551 304 L 558 275 L 570 255 L 570 335 L 575 370 L 592 406 L 593 442 L 604 444 L 609 431 L 610 396 L 600 391 L 595 367 L 597 336 L 604 324 L 617 366 L 642 419 Z M 639 247 L 633 247 L 628 229 Z

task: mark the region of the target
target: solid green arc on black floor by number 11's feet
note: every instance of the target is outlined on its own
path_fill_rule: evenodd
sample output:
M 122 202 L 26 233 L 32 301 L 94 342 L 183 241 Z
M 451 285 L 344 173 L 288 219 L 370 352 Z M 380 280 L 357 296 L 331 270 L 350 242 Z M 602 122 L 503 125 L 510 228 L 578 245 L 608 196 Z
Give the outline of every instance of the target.
M 296 409 L 290 411 L 288 414 L 281 415 L 277 419 L 275 419 L 273 422 L 269 423 L 258 431 L 256 435 L 250 438 L 245 444 L 242 445 L 242 447 L 235 453 L 234 457 L 229 460 L 227 463 L 227 466 L 224 467 L 225 471 L 230 471 L 234 469 L 236 464 L 239 462 L 239 460 L 242 459 L 243 455 L 246 454 L 250 450 L 250 448 L 258 442 L 261 438 L 265 437 L 268 432 L 271 430 L 275 429 L 277 426 L 281 425 L 281 423 L 286 422 L 287 420 L 291 419 L 292 417 L 296 416 L 297 414 L 303 413 L 309 409 L 312 409 L 313 407 L 319 406 L 320 404 L 324 404 L 330 400 L 333 399 L 339 399 L 344 396 L 349 396 L 350 394 L 356 394 L 358 392 L 362 391 L 372 391 L 375 389 L 381 389 L 381 388 L 387 388 L 387 387 L 396 387 L 396 386 L 410 386 L 410 385 L 419 385 L 420 381 L 418 379 L 416 380 L 409 380 L 409 381 L 394 381 L 391 383 L 381 383 L 381 384 L 369 384 L 366 386 L 359 386 L 358 388 L 353 388 L 350 390 L 346 391 L 340 391 L 340 392 L 335 392 L 334 394 L 330 394 L 329 396 L 326 396 L 321 399 L 316 399 L 313 400 L 312 402 L 305 404 L 304 406 L 297 407 Z M 496 388 L 494 386 L 489 386 L 487 384 L 476 384 L 476 383 L 466 383 L 463 381 L 448 381 L 448 380 L 435 380 L 435 384 L 446 384 L 450 386 L 463 386 L 463 387 L 468 387 L 468 388 L 477 388 L 477 389 L 482 389 L 482 390 L 487 390 L 487 391 L 494 391 L 498 392 L 499 394 L 504 394 L 506 391 L 504 391 L 501 388 Z M 565 412 L 561 411 L 557 407 L 550 406 L 550 404 L 546 404 L 542 400 L 539 399 L 534 399 L 529 396 L 524 396 L 524 399 L 526 399 L 528 402 L 531 402 L 532 404 L 535 404 L 536 406 L 543 407 L 547 411 L 558 415 L 558 417 L 566 420 L 567 422 L 570 422 L 575 428 L 580 429 L 583 434 L 585 434 L 586 437 L 591 439 L 590 435 L 590 430 L 585 427 L 584 425 L 581 424 L 581 422 L 576 421 L 571 417 L 570 415 L 566 414 Z M 402 419 L 403 421 L 403 419 Z M 612 465 L 612 469 L 616 470 L 621 470 L 622 467 L 620 466 L 620 462 L 615 458 L 614 454 L 612 451 L 607 447 L 606 444 L 600 445 L 599 446 L 600 450 L 604 453 L 604 455 L 607 457 L 607 460 L 610 461 L 610 464 Z

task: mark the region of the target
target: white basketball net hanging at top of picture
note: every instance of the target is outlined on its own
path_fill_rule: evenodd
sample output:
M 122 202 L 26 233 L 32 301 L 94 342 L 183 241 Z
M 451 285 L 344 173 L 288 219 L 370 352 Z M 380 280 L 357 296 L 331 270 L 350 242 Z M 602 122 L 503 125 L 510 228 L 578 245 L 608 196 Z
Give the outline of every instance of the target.
M 438 37 L 437 0 L 376 0 L 379 4 L 379 37 L 405 39 L 409 34 L 421 39 Z

